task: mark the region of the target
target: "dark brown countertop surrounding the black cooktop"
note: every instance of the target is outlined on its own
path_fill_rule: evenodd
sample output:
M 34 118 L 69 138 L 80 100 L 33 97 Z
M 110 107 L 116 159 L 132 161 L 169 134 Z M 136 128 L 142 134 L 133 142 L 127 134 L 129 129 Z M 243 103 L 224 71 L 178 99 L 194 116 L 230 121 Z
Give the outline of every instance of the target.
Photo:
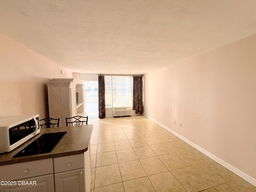
M 69 156 L 75 154 L 82 154 L 88 150 L 90 144 L 90 139 L 92 135 L 93 125 L 80 125 L 71 127 L 57 127 L 57 128 L 46 128 L 40 129 L 40 133 L 22 144 L 21 146 L 15 148 L 8 153 L 0 154 L 0 166 L 9 165 L 21 162 L 36 161 L 48 158 L 56 158 L 62 156 Z M 64 132 L 67 131 L 66 135 L 60 140 L 57 146 L 50 152 L 44 154 L 36 154 L 23 157 L 13 156 L 20 152 L 23 148 L 28 146 L 38 137 L 44 133 L 54 133 L 54 132 Z

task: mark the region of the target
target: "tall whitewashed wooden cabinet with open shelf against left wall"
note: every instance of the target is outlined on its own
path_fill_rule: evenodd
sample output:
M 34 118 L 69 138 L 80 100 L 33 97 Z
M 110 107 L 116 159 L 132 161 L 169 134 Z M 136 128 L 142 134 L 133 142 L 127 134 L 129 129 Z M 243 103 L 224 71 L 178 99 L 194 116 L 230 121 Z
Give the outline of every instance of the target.
M 66 117 L 85 116 L 84 84 L 72 78 L 53 78 L 47 82 L 50 118 L 60 118 L 59 126 L 66 126 Z M 78 104 L 76 103 L 78 93 Z

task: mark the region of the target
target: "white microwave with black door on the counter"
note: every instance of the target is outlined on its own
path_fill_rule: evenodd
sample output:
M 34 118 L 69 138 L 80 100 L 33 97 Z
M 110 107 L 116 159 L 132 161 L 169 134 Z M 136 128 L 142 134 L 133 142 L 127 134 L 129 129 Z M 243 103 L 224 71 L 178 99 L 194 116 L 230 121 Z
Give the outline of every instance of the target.
M 39 115 L 0 118 L 0 153 L 14 150 L 39 132 Z

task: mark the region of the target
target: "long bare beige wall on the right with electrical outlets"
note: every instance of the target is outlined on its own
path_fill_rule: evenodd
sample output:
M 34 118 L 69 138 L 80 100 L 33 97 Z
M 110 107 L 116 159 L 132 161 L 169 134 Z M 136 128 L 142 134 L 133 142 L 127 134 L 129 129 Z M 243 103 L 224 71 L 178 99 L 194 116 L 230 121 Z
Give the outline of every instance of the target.
M 255 185 L 256 35 L 145 74 L 144 110 Z

